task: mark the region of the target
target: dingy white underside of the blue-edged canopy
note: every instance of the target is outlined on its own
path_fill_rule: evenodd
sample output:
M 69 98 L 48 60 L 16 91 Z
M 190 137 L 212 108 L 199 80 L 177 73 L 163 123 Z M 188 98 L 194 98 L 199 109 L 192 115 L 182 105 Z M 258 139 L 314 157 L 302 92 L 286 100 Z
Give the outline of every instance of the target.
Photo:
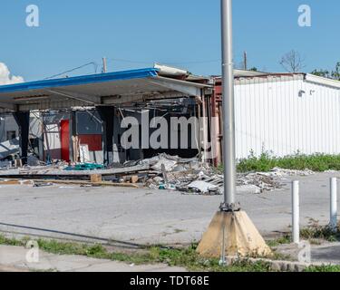
M 0 91 L 0 110 L 29 111 L 77 106 L 120 105 L 176 97 L 201 97 L 209 86 L 151 76 L 128 80 L 51 86 L 16 92 Z

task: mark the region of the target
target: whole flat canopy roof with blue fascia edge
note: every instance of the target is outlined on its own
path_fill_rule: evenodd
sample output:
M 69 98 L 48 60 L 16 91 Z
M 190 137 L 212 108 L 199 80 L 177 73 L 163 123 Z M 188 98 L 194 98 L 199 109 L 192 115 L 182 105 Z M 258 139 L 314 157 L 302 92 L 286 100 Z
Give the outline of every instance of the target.
M 154 68 L 101 73 L 0 86 L 0 110 L 58 110 L 183 96 L 200 98 L 205 88 L 209 85 L 160 76 Z

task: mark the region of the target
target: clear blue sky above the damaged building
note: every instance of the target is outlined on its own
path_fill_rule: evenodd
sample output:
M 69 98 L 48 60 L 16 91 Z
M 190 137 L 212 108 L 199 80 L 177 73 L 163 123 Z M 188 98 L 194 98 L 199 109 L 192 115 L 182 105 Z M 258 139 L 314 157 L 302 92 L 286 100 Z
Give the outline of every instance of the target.
M 25 7 L 40 8 L 40 27 L 25 25 Z M 297 7 L 312 8 L 312 27 L 297 25 Z M 291 49 L 306 72 L 340 61 L 338 0 L 234 0 L 235 63 L 282 71 Z M 26 81 L 83 63 L 109 60 L 109 71 L 170 63 L 192 73 L 220 73 L 219 0 L 1 0 L 0 62 Z M 122 62 L 118 60 L 127 60 Z M 135 62 L 135 63 L 133 63 Z M 93 66 L 69 75 L 93 73 Z

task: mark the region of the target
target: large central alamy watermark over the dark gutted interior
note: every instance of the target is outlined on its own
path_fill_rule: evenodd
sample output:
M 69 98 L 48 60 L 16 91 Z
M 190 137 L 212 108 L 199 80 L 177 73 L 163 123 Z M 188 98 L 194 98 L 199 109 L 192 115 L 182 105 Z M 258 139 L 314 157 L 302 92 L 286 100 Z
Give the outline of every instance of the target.
M 125 117 L 121 121 L 121 148 L 123 150 L 202 150 L 205 159 L 218 157 L 215 126 L 219 118 L 212 117 L 154 117 L 150 111 L 142 111 L 141 118 Z

